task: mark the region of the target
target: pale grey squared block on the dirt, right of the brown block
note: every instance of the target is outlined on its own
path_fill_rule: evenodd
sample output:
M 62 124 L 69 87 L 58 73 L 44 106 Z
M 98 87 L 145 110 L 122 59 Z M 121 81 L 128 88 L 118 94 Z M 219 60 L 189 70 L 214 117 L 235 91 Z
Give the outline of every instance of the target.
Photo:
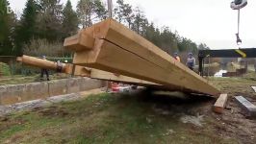
M 243 98 L 243 96 L 236 96 L 236 101 L 242 107 L 245 116 L 247 117 L 256 117 L 256 106 L 250 103 L 248 100 Z

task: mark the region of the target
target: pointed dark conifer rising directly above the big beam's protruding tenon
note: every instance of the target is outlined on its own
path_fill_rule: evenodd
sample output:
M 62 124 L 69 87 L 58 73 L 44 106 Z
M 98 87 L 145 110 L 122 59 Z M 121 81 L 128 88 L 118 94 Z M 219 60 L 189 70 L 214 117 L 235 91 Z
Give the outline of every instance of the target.
M 63 36 L 67 37 L 75 34 L 78 29 L 78 17 L 72 9 L 70 0 L 67 0 L 65 4 L 63 16 Z

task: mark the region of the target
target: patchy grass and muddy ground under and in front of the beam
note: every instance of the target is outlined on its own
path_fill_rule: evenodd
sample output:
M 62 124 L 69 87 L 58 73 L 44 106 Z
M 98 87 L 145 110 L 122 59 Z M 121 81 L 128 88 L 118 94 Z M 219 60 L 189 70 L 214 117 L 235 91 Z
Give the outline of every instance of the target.
M 213 98 L 150 90 L 90 94 L 11 112 L 0 117 L 0 143 L 255 144 L 256 120 L 245 118 L 233 98 L 256 104 L 255 78 L 210 78 L 230 96 L 223 114 L 212 112 Z

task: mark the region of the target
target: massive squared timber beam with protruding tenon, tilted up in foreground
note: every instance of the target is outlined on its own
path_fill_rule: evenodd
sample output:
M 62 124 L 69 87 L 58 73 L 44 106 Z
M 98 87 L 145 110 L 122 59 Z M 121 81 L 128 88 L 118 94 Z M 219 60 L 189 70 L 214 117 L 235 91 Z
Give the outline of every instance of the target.
M 78 65 L 162 84 L 169 89 L 219 94 L 217 88 L 184 64 L 111 18 L 65 38 L 64 47 L 75 52 L 73 63 Z

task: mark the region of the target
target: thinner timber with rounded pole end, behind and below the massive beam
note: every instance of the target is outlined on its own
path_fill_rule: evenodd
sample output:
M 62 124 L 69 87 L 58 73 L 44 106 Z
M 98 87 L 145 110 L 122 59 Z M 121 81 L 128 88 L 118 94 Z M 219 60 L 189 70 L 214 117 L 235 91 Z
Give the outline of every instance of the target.
M 30 57 L 23 55 L 22 57 L 17 58 L 18 61 L 39 67 L 39 68 L 45 68 L 49 70 L 57 70 L 58 69 L 58 64 L 57 62 L 50 61 L 50 60 L 42 60 L 38 59 L 35 57 Z M 123 83 L 123 84 L 137 84 L 141 86 L 152 86 L 152 87 L 158 87 L 158 88 L 163 88 L 165 89 L 164 86 L 161 84 L 155 84 L 151 82 L 146 82 L 140 79 L 135 79 L 123 75 L 118 75 L 118 74 L 113 74 L 107 71 L 102 71 L 94 68 L 88 68 L 85 66 L 79 66 L 79 65 L 73 65 L 71 63 L 61 63 L 62 68 L 61 71 L 62 73 L 66 74 L 74 74 L 75 76 L 82 76 L 82 77 L 89 77 L 91 79 L 97 79 L 97 80 L 105 80 L 105 81 L 112 81 L 112 82 L 117 82 L 117 83 Z M 74 70 L 73 70 L 74 68 Z

